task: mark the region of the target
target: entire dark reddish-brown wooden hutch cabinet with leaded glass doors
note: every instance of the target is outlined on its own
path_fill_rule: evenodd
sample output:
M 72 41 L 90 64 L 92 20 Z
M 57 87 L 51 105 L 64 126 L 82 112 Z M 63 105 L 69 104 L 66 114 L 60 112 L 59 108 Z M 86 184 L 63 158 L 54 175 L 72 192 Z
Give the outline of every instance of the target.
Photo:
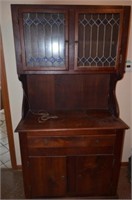
M 116 198 L 128 6 L 12 5 L 26 198 Z

